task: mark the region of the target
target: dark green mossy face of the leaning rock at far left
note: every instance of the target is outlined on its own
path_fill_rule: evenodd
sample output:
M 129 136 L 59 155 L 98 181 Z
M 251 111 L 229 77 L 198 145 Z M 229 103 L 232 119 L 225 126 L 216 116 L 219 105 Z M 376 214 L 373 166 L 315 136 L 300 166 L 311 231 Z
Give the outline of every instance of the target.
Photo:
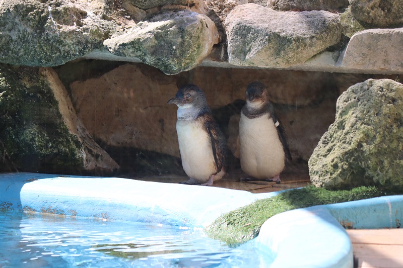
M 38 68 L 0 65 L 0 145 L 2 171 L 82 169 L 81 143 Z

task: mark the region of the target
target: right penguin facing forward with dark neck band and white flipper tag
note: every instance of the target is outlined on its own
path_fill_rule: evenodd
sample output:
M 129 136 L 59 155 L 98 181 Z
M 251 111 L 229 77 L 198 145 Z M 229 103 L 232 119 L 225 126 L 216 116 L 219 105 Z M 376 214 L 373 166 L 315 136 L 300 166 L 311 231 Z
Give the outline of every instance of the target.
M 263 83 L 248 84 L 239 121 L 239 158 L 249 175 L 241 181 L 280 183 L 280 173 L 291 161 L 287 137 Z

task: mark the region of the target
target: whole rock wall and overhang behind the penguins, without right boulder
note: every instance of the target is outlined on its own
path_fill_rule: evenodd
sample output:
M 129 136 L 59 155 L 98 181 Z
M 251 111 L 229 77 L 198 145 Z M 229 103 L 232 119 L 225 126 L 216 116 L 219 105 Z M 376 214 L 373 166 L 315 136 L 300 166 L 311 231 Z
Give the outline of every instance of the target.
M 293 158 L 306 161 L 340 94 L 403 74 L 401 0 L 364 2 L 3 1 L 0 169 L 112 172 L 113 159 L 137 159 L 180 170 L 166 101 L 184 83 L 205 91 L 236 167 L 253 80 L 267 85 Z

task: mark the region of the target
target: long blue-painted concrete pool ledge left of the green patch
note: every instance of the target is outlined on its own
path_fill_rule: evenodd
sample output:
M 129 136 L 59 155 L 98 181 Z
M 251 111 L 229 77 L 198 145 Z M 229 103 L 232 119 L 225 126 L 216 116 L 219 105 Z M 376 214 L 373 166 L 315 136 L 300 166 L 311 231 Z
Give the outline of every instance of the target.
M 179 227 L 206 227 L 274 195 L 113 177 L 0 174 L 0 208 Z

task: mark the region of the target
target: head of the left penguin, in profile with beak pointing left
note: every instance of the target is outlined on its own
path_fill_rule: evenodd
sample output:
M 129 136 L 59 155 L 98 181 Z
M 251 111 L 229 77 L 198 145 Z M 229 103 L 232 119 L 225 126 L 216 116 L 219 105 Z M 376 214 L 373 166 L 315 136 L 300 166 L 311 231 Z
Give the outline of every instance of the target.
M 207 107 L 206 96 L 194 84 L 180 87 L 175 97 L 168 101 L 168 104 L 176 104 L 179 109 Z

